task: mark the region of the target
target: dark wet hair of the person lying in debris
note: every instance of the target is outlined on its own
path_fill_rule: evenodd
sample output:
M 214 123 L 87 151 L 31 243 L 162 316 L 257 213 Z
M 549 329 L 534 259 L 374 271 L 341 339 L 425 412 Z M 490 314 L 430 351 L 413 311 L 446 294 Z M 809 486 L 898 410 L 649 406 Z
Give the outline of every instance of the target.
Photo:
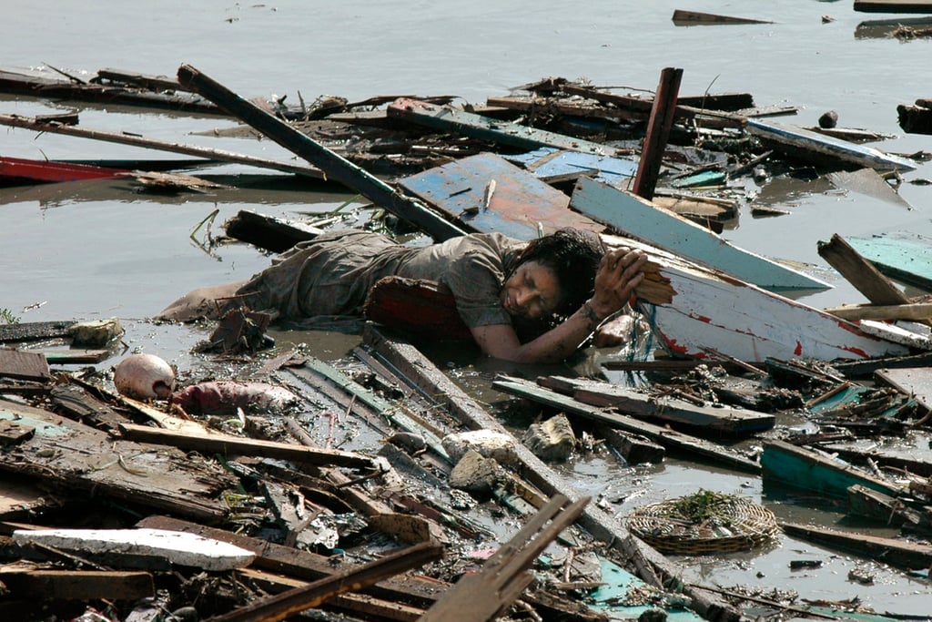
M 536 261 L 554 270 L 563 294 L 555 315 L 566 317 L 592 296 L 596 270 L 603 255 L 605 251 L 595 233 L 577 228 L 561 228 L 528 242 L 528 246 L 517 257 L 515 269 L 528 261 Z

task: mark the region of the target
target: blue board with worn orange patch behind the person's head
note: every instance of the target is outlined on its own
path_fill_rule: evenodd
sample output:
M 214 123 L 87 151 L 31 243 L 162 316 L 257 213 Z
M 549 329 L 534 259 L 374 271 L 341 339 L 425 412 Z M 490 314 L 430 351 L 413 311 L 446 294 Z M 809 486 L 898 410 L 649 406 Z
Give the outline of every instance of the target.
M 489 183 L 495 181 L 488 206 Z M 399 184 L 455 219 L 462 228 L 498 231 L 518 240 L 575 227 L 600 233 L 604 225 L 569 210 L 569 197 L 493 153 L 482 153 L 405 177 Z

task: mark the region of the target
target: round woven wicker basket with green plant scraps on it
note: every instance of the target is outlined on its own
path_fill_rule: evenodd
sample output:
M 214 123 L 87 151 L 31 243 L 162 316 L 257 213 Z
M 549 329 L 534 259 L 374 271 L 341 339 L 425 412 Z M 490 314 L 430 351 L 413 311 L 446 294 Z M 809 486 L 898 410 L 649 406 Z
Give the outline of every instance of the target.
M 709 491 L 638 508 L 627 523 L 644 542 L 676 555 L 746 551 L 780 532 L 770 510 L 744 497 Z

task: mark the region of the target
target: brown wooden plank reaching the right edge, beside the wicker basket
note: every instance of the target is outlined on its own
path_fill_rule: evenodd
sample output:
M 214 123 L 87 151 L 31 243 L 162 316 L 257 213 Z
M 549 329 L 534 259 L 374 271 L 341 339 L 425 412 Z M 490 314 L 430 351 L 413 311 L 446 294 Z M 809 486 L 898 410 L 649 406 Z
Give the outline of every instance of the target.
M 809 542 L 839 548 L 873 561 L 882 561 L 906 570 L 924 570 L 932 565 L 932 546 L 868 533 L 841 532 L 833 529 L 781 522 L 788 535 Z

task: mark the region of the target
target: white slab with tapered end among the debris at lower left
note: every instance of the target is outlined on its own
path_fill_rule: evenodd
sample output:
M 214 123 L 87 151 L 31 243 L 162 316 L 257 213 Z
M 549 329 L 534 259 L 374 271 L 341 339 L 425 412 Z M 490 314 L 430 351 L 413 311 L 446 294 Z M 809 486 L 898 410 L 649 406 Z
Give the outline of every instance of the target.
M 45 529 L 16 530 L 13 541 L 87 553 L 125 553 L 165 558 L 171 563 L 209 571 L 248 566 L 255 554 L 240 546 L 196 533 L 162 529 Z

